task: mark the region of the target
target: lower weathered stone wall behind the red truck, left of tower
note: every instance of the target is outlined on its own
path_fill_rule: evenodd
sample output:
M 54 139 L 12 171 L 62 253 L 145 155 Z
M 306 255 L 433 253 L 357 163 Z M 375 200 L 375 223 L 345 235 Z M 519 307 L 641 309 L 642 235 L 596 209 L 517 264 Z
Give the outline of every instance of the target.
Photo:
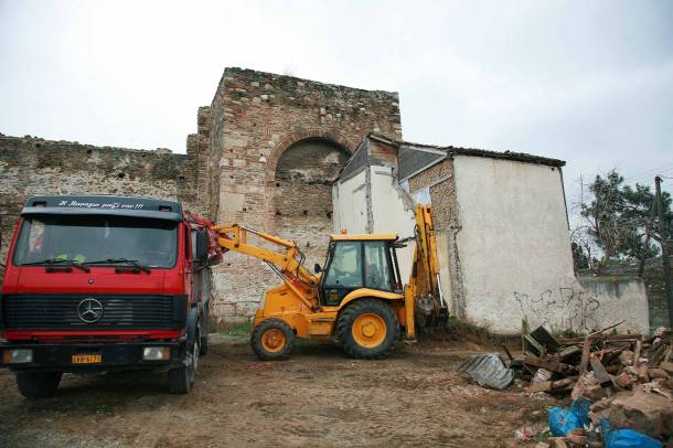
M 2 263 L 29 196 L 34 194 L 125 194 L 195 204 L 190 156 L 165 149 L 143 151 L 71 141 L 0 135 L 0 231 Z

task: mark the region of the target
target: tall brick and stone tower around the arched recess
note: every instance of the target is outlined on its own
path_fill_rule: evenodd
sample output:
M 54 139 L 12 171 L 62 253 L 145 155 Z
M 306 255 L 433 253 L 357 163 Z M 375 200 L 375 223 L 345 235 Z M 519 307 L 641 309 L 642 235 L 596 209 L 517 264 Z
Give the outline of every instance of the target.
M 237 222 L 274 234 L 290 232 L 290 230 L 306 228 L 311 216 L 327 211 L 321 201 L 308 200 L 311 194 L 303 190 L 292 200 L 300 201 L 303 193 L 306 206 L 299 215 L 282 215 L 282 211 L 276 214 L 276 189 L 284 188 L 287 172 L 282 169 L 286 150 L 311 140 L 350 154 L 371 131 L 402 139 L 396 93 L 241 68 L 224 71 L 211 105 L 210 129 L 210 162 L 212 168 L 218 168 L 217 175 L 211 178 L 220 179 L 218 185 L 211 189 L 217 198 L 211 206 L 211 212 L 216 211 L 216 221 Z M 333 172 L 327 169 L 322 175 L 318 171 L 311 177 L 316 182 L 329 182 Z M 282 203 L 279 205 L 282 207 Z M 329 232 L 314 233 L 323 226 L 318 224 L 311 232 L 295 235 L 300 246 L 310 244 L 314 254 L 323 249 Z M 225 255 L 214 280 L 214 313 L 229 320 L 249 317 L 264 290 L 278 282 L 261 262 L 237 254 Z

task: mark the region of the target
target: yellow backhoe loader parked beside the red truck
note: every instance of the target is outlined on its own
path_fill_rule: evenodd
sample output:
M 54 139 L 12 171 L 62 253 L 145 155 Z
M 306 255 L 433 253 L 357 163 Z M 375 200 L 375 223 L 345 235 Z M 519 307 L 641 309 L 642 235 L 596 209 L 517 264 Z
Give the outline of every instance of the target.
M 416 339 L 417 327 L 441 326 L 448 309 L 441 295 L 439 264 L 429 206 L 415 209 L 415 235 L 331 235 L 324 269 L 302 265 L 296 243 L 237 224 L 213 226 L 223 252 L 266 262 L 282 282 L 269 288 L 255 314 L 252 345 L 263 360 L 286 359 L 295 338 L 336 339 L 352 358 L 386 358 L 402 339 Z M 248 234 L 280 252 L 248 243 Z M 407 285 L 402 284 L 396 249 L 415 239 Z

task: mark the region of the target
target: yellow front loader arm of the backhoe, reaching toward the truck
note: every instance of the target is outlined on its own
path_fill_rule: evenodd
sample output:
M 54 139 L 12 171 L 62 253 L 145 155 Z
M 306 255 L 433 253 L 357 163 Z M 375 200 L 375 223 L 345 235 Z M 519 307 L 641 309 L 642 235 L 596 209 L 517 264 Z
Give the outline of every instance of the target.
M 302 265 L 303 254 L 295 242 L 255 231 L 238 224 L 215 225 L 212 231 L 218 234 L 217 244 L 223 252 L 232 250 L 265 262 L 310 309 L 318 307 L 318 277 Z M 248 243 L 248 233 L 280 247 L 273 250 Z M 284 250 L 285 249 L 285 250 Z

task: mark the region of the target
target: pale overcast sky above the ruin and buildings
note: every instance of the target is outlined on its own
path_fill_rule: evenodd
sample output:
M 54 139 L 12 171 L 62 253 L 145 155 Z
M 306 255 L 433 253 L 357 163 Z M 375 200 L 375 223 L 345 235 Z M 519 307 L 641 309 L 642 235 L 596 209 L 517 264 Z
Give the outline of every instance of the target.
M 406 140 L 564 159 L 570 203 L 673 178 L 673 1 L 0 0 L 6 135 L 184 152 L 225 66 L 399 92 Z

